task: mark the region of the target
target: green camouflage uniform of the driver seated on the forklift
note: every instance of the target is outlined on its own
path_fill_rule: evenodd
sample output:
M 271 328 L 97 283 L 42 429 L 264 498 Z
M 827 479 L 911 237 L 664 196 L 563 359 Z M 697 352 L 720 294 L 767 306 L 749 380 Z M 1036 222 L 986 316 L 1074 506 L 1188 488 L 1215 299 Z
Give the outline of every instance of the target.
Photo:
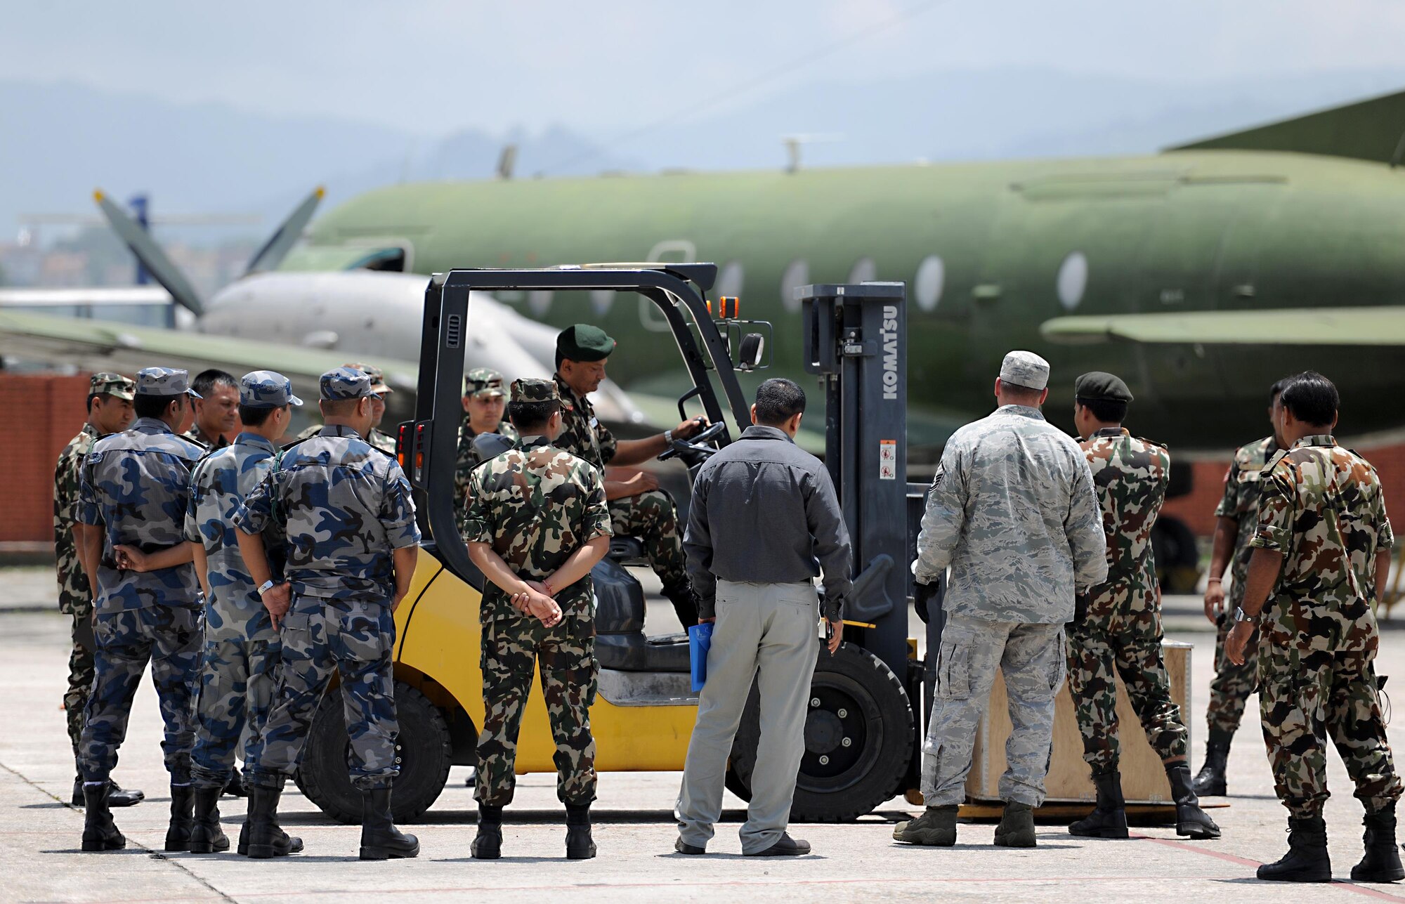
M 577 396 L 566 380 L 556 376 L 561 393 L 561 435 L 554 445 L 594 465 L 601 477 L 615 455 L 615 438 L 596 417 L 594 406 Z M 665 490 L 649 490 L 638 496 L 610 500 L 610 524 L 615 533 L 638 538 L 649 567 L 659 576 L 665 592 L 687 585 L 683 560 L 683 538 L 679 535 L 679 512 L 673 497 Z

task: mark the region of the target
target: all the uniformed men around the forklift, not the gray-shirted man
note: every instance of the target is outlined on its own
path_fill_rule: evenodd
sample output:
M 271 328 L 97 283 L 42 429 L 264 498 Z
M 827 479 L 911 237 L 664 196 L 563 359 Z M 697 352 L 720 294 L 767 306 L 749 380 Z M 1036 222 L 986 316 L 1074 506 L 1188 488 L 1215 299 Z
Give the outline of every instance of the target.
M 589 401 L 614 347 L 597 327 L 576 324 L 558 337 L 554 379 L 509 387 L 486 369 L 465 379 L 455 504 L 488 578 L 475 858 L 500 855 L 534 667 L 556 744 L 566 853 L 596 853 L 589 574 L 610 535 L 641 538 L 680 622 L 698 620 L 672 498 L 651 476 L 618 481 L 604 466 L 642 463 L 705 424 L 615 439 Z M 1040 410 L 1048 379 L 1043 358 L 1010 352 L 995 385 L 999 407 L 951 437 L 933 479 L 913 563 L 922 597 L 948 574 L 923 744 L 926 810 L 894 837 L 955 842 L 976 724 L 999 670 L 1013 733 L 996 844 L 1035 845 L 1033 809 L 1044 800 L 1065 675 L 1097 789 L 1096 807 L 1069 831 L 1125 838 L 1116 675 L 1165 764 L 1177 834 L 1220 837 L 1197 792 L 1225 793 L 1229 740 L 1257 689 L 1274 786 L 1290 813 L 1290 851 L 1259 876 L 1331 879 L 1322 804 L 1332 743 L 1366 809 L 1366 855 L 1352 876 L 1405 877 L 1395 848 L 1401 782 L 1371 665 L 1373 605 L 1394 538 L 1374 469 L 1332 439 L 1333 385 L 1311 372 L 1276 383 L 1272 434 L 1241 448 L 1225 477 L 1205 591 L 1205 615 L 1220 625 L 1217 677 L 1205 762 L 1191 780 L 1189 733 L 1161 651 L 1151 547 L 1169 453 L 1123 427 L 1132 394 L 1110 373 L 1075 383 L 1080 439 L 1054 428 Z M 235 380 L 207 371 L 192 383 L 166 368 L 140 371 L 135 382 L 93 376 L 87 424 L 55 473 L 59 601 L 73 615 L 65 705 L 84 851 L 124 846 L 110 807 L 142 799 L 111 773 L 150 663 L 171 778 L 167 851 L 229 848 L 222 793 L 249 796 L 239 853 L 302 849 L 278 827 L 278 799 L 336 672 L 347 764 L 362 793 L 360 856 L 419 852 L 391 817 L 393 612 L 420 540 L 393 441 L 377 428 L 391 389 L 378 369 L 350 364 L 322 375 L 319 390 L 323 424 L 280 446 L 302 400 L 278 373 Z M 483 434 L 510 448 L 485 458 L 475 442 Z

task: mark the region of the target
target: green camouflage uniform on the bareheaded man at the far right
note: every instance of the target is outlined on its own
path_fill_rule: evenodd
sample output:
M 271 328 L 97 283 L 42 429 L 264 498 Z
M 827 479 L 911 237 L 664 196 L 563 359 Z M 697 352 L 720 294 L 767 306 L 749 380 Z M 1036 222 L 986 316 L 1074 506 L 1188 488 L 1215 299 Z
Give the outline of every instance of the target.
M 1374 559 L 1395 538 L 1375 469 L 1329 435 L 1279 452 L 1259 480 L 1250 545 L 1283 554 L 1259 627 L 1259 707 L 1274 790 L 1291 818 L 1328 799 L 1336 745 L 1367 813 L 1401 796 L 1380 693 Z

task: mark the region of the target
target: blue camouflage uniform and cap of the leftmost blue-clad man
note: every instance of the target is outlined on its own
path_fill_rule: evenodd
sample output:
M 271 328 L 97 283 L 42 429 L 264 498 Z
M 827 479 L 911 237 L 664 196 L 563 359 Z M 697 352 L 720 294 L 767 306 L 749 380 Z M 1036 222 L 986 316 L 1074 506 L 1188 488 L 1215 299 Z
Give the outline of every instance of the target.
M 138 396 L 194 394 L 187 386 L 185 371 L 148 368 L 136 375 Z M 114 547 L 129 545 L 155 553 L 185 542 L 190 473 L 204 452 L 164 421 L 142 417 L 129 430 L 100 439 L 83 465 L 79 521 L 104 526 L 93 601 L 96 678 L 79 744 L 87 783 L 105 782 L 117 765 L 117 748 L 126 737 L 132 698 L 148 661 L 166 723 L 166 769 L 171 785 L 190 783 L 201 643 L 195 569 L 122 570 Z

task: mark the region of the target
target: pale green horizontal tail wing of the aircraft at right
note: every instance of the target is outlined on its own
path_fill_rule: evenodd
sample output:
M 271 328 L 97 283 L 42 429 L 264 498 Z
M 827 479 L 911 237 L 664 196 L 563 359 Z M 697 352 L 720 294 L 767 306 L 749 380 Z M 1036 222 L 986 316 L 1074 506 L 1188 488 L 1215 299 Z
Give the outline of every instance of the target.
M 1055 317 L 1040 334 L 1062 345 L 1405 345 L 1405 306 Z

